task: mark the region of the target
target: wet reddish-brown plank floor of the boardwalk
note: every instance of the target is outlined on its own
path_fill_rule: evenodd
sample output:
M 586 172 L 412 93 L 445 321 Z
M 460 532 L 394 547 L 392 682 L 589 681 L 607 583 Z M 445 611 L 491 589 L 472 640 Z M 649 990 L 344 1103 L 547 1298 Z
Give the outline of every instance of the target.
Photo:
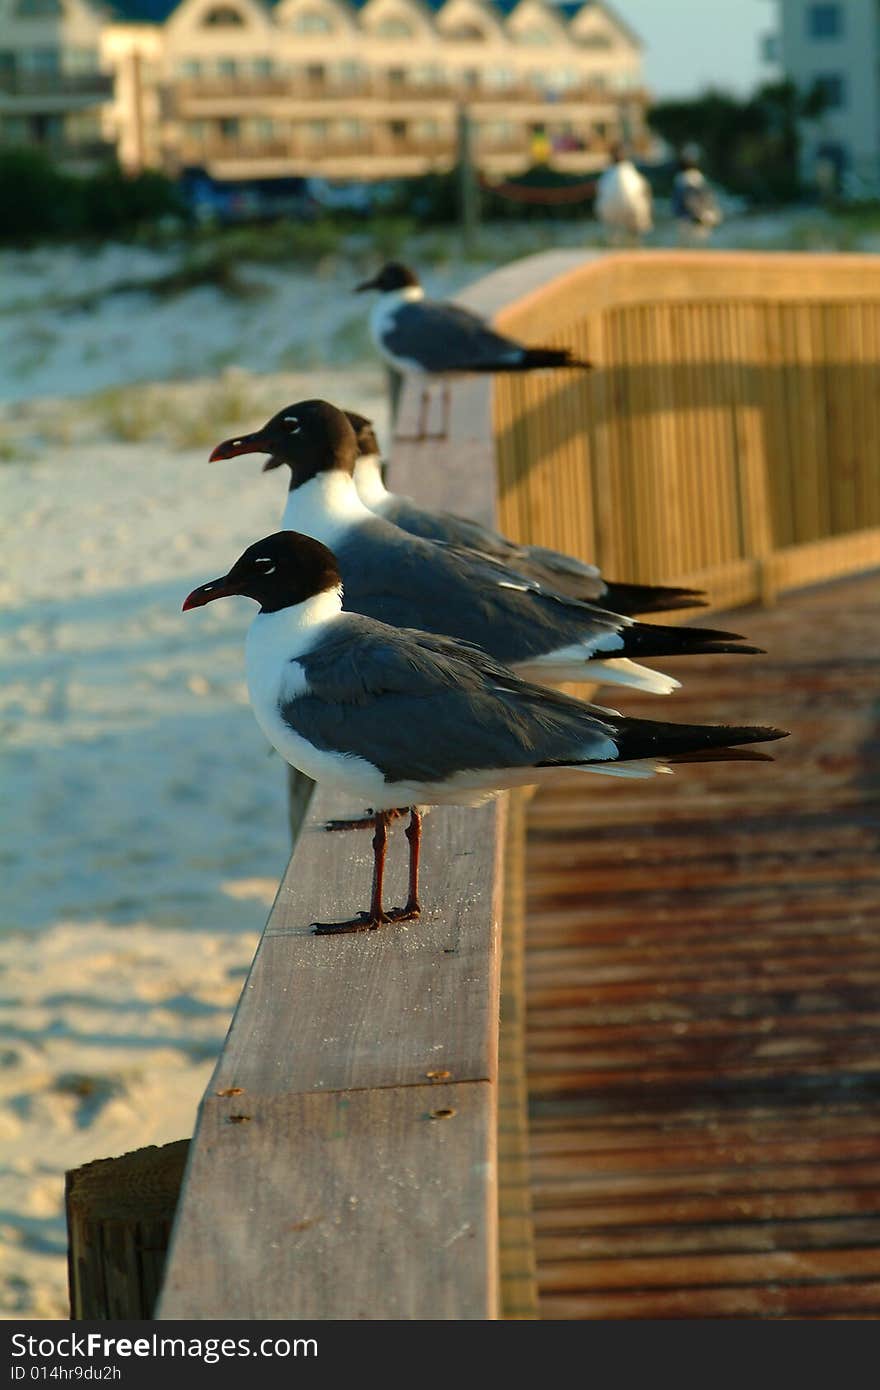
M 717 626 L 769 655 L 599 699 L 781 726 L 774 764 L 530 806 L 544 1318 L 880 1315 L 880 575 Z

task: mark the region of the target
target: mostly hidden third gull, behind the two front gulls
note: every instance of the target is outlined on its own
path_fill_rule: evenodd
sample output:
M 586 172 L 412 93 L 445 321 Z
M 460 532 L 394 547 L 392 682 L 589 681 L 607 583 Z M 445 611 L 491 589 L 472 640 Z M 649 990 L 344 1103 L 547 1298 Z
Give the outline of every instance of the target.
M 516 541 L 509 541 L 498 531 L 489 531 L 468 517 L 453 516 L 452 512 L 434 512 L 412 498 L 389 492 L 382 478 L 373 421 L 355 410 L 346 410 L 345 414 L 357 436 L 355 486 L 360 500 L 375 516 L 393 521 L 409 535 L 475 550 L 478 555 L 509 564 L 556 594 L 567 594 L 612 613 L 662 613 L 667 609 L 705 607 L 703 595 L 696 589 L 655 584 L 614 584 L 605 580 L 595 564 L 576 560 L 571 555 L 548 550 L 541 545 L 517 545 Z M 282 463 L 284 459 L 270 457 L 263 464 L 263 471 L 277 468 Z

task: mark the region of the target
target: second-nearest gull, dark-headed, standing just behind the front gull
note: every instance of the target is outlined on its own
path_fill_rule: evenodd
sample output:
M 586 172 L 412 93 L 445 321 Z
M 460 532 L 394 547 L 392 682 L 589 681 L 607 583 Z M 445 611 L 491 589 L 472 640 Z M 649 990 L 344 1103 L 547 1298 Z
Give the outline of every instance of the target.
M 360 500 L 357 439 L 345 413 L 327 400 L 286 406 L 256 434 L 217 445 L 210 457 L 246 453 L 288 464 L 282 527 L 334 550 L 355 613 L 475 642 L 521 676 L 551 684 L 587 680 L 669 694 L 678 681 L 634 657 L 759 651 L 733 632 L 637 623 L 491 556 L 407 535 Z

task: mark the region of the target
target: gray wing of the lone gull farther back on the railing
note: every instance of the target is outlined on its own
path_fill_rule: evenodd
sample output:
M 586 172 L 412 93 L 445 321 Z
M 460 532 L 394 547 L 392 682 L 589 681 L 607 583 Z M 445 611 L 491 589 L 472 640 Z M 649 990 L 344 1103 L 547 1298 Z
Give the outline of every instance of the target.
M 496 334 L 477 314 L 430 299 L 395 310 L 384 346 L 402 361 L 438 373 L 514 363 L 523 353 L 520 343 Z

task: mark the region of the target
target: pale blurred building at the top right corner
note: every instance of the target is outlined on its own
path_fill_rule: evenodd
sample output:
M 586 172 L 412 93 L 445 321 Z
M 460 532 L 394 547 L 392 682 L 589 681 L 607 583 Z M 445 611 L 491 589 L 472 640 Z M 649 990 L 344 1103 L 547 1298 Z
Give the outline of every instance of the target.
M 802 128 L 802 175 L 851 193 L 880 186 L 880 0 L 776 0 L 773 57 L 824 110 Z

